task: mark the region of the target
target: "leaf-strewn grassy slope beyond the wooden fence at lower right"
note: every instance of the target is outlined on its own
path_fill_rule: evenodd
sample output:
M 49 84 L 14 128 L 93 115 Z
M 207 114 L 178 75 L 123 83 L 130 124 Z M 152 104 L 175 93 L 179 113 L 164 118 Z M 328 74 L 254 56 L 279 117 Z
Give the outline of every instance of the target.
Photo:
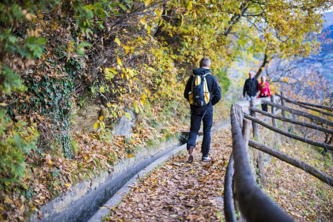
M 262 141 L 265 143 L 274 141 L 272 132 L 263 128 L 260 130 L 264 134 Z M 279 149 L 281 152 L 304 161 L 328 175 L 333 174 L 333 160 L 324 158 L 318 150 L 307 144 L 298 141 L 292 141 L 291 144 L 288 144 L 283 141 Z M 325 165 L 325 162 L 328 166 Z M 332 187 L 302 169 L 276 158 L 273 158 L 270 165 L 265 167 L 265 175 L 268 184 L 268 189 L 265 192 L 272 196 L 276 203 L 295 221 L 333 221 Z

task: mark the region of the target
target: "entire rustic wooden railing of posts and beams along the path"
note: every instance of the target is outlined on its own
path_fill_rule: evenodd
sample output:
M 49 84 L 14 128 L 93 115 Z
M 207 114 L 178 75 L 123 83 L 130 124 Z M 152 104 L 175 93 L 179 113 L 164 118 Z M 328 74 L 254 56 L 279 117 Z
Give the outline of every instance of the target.
M 327 116 L 332 116 L 332 113 L 327 111 L 333 111 L 333 109 L 322 105 L 292 101 L 285 98 L 283 93 L 281 93 L 279 97 L 281 105 L 277 103 L 277 100 L 275 99 L 276 97 L 271 96 L 271 98 L 267 97 L 263 99 L 252 99 L 251 101 L 242 101 L 231 106 L 230 117 L 232 132 L 232 153 L 230 155 L 229 163 L 224 177 L 224 215 L 227 222 L 236 222 L 235 208 L 241 213 L 240 219 L 244 219 L 249 222 L 293 221 L 291 217 L 283 212 L 277 206 L 277 204 L 275 204 L 256 186 L 253 170 L 249 164 L 249 153 L 247 148 L 248 145 L 254 148 L 253 152 L 258 152 L 256 164 L 259 168 L 260 179 L 264 187 L 266 186 L 266 179 L 262 166 L 261 152 L 274 156 L 277 159 L 284 161 L 292 166 L 296 166 L 333 187 L 333 178 L 329 177 L 322 171 L 302 161 L 289 157 L 288 155 L 283 154 L 266 145 L 249 139 L 252 121 L 254 138 L 258 138 L 258 124 L 260 124 L 274 131 L 277 138 L 280 135 L 284 135 L 291 139 L 296 139 L 308 144 L 312 144 L 314 146 L 322 147 L 325 149 L 325 151 L 333 151 L 333 145 L 330 144 L 332 143 L 333 129 L 329 128 L 330 126 L 333 126 L 333 122 L 308 112 L 286 107 L 286 103 L 292 103 L 293 105 L 297 105 L 303 109 L 317 111 L 322 115 Z M 272 108 L 272 113 L 261 111 L 255 108 L 256 105 L 261 103 L 270 105 Z M 321 111 L 313 107 L 324 109 L 326 111 Z M 244 113 L 243 108 L 249 108 L 251 115 Z M 277 115 L 276 109 L 281 111 L 282 116 Z M 287 118 L 285 113 L 286 111 L 295 115 L 306 117 L 315 123 L 321 124 L 321 126 L 308 122 L 301 122 L 292 118 Z M 256 113 L 261 113 L 264 116 L 271 117 L 272 125 L 257 118 Z M 277 128 L 276 119 L 283 121 L 284 130 Z M 324 132 L 326 135 L 331 135 L 331 139 L 326 139 L 325 141 L 329 141 L 329 143 L 326 143 L 292 134 L 286 130 L 287 122 Z

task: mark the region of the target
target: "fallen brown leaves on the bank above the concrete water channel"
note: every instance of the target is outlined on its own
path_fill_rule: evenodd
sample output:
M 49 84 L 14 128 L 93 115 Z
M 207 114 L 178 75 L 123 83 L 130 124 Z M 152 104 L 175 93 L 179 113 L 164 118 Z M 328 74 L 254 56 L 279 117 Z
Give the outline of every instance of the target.
M 145 119 L 144 119 L 145 120 Z M 143 121 L 145 122 L 145 121 Z M 169 124 L 167 129 L 174 133 L 180 131 L 178 126 Z M 164 127 L 165 128 L 165 127 Z M 146 149 L 146 142 L 154 138 L 166 136 L 159 133 L 147 123 L 133 127 L 133 136 L 127 141 L 123 136 L 111 136 L 99 138 L 100 133 L 73 133 L 73 138 L 78 142 L 78 154 L 72 159 L 64 159 L 45 154 L 43 159 L 37 154 L 27 157 L 30 173 L 24 178 L 27 187 L 34 187 L 31 200 L 25 198 L 17 190 L 0 191 L 0 221 L 24 221 L 27 212 L 38 213 L 43 204 L 59 196 L 77 182 L 92 179 L 94 174 L 101 170 L 113 170 L 113 165 L 125 158 L 134 157 L 134 153 L 128 155 L 128 150 L 135 148 Z

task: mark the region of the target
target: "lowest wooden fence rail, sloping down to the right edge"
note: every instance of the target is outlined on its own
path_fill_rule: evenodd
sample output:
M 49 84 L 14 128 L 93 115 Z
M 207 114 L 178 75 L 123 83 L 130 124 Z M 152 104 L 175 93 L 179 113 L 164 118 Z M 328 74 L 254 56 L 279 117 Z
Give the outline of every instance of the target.
M 316 168 L 304 163 L 304 162 L 301 162 L 299 160 L 296 160 L 292 157 L 289 157 L 288 155 L 286 154 L 283 154 L 277 150 L 274 150 L 266 145 L 263 145 L 263 144 L 260 144 L 260 143 L 257 143 L 256 141 L 254 140 L 249 140 L 249 145 L 255 149 L 258 149 L 260 151 L 263 151 L 273 157 L 276 157 L 277 159 L 281 160 L 281 161 L 284 161 L 292 166 L 296 166 L 297 168 L 300 168 L 302 170 L 304 170 L 305 172 L 308 172 L 310 173 L 311 175 L 313 175 L 314 177 L 320 179 L 321 181 L 323 181 L 324 183 L 327 183 L 329 184 L 331 187 L 333 187 L 333 178 L 332 177 L 329 177 L 327 176 L 325 173 L 323 173 L 322 171 L 320 170 L 317 170 Z

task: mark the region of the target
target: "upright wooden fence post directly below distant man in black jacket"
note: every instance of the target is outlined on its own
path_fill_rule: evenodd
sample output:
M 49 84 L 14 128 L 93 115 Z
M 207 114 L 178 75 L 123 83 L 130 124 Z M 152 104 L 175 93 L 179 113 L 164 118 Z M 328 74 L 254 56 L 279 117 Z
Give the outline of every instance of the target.
M 250 100 L 250 107 L 255 108 L 255 99 L 254 98 L 251 98 L 251 100 Z M 253 117 L 256 117 L 256 112 L 251 111 L 251 115 Z M 253 127 L 253 137 L 256 140 L 258 140 L 258 138 L 259 138 L 258 123 L 252 121 L 252 127 Z M 253 150 L 253 159 L 257 163 L 261 183 L 263 184 L 263 187 L 266 188 L 266 178 L 265 178 L 265 171 L 264 171 L 264 166 L 263 166 L 263 157 L 262 157 L 261 153 L 262 153 L 261 151 L 254 149 Z

